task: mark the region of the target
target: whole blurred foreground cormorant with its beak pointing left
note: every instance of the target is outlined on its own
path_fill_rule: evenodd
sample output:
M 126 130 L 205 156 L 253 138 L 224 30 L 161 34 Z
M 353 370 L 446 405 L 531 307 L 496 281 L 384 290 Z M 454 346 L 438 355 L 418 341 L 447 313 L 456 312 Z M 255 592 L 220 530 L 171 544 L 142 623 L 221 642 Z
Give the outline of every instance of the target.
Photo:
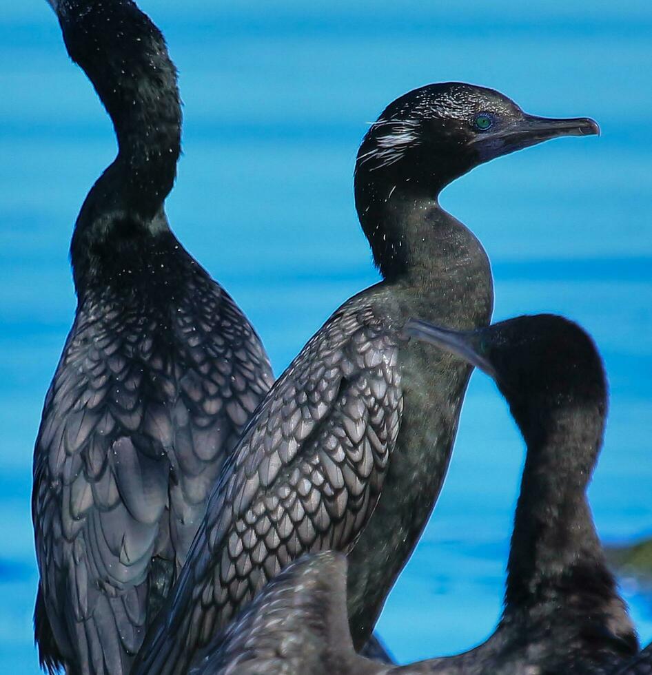
M 236 667 L 268 675 L 649 675 L 652 647 L 635 656 L 638 641 L 587 503 L 607 413 L 607 383 L 589 335 L 551 315 L 467 333 L 410 322 L 407 333 L 489 373 L 527 443 L 496 632 L 458 656 L 395 669 L 367 661 L 347 630 L 345 559 L 321 553 L 271 581 L 197 654 L 192 675 Z

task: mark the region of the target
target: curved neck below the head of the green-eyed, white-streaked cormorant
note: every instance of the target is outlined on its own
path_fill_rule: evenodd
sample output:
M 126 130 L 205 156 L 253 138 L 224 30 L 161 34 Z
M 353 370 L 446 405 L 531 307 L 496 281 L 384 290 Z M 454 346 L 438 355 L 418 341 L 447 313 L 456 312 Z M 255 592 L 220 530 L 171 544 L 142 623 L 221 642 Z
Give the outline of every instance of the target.
M 475 281 L 489 273 L 489 260 L 473 233 L 439 205 L 438 192 L 403 181 L 374 183 L 356 173 L 356 209 L 374 262 L 389 282 L 405 280 L 422 289 L 442 280 Z

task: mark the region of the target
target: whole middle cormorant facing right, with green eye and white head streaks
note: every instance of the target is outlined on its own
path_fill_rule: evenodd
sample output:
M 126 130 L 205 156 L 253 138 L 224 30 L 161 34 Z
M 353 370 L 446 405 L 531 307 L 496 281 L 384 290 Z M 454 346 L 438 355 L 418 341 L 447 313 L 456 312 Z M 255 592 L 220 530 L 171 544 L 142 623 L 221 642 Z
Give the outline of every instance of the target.
M 438 195 L 491 158 L 596 132 L 587 118 L 529 116 L 462 83 L 387 107 L 355 176 L 383 281 L 327 320 L 256 411 L 134 672 L 184 673 L 270 578 L 323 549 L 349 553 L 352 634 L 357 648 L 367 641 L 438 496 L 470 374 L 456 357 L 407 343 L 403 324 L 420 316 L 471 329 L 491 315 L 485 251 Z

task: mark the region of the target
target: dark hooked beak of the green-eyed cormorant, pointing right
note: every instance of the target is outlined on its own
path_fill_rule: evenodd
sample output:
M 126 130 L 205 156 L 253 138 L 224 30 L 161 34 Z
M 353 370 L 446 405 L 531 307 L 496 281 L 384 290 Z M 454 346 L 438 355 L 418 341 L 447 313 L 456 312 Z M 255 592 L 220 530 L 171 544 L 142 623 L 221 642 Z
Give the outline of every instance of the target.
M 478 134 L 470 145 L 483 160 L 489 160 L 561 136 L 600 136 L 600 127 L 590 117 L 564 119 L 524 114 L 505 127 Z

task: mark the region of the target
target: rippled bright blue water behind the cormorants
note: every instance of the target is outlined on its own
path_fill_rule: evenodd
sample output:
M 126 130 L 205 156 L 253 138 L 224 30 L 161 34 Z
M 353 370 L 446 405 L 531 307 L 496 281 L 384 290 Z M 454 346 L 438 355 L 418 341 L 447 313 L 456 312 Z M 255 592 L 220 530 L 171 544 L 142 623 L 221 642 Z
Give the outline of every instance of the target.
M 142 0 L 179 65 L 184 245 L 261 333 L 281 373 L 376 281 L 352 201 L 366 124 L 456 79 L 536 114 L 591 115 L 602 138 L 480 167 L 442 204 L 484 242 L 495 318 L 556 311 L 593 333 L 611 380 L 591 487 L 607 542 L 652 534 L 652 4 L 594 0 Z M 29 496 L 41 404 L 74 311 L 72 223 L 114 155 L 45 2 L 0 7 L 0 663 L 36 673 Z M 474 375 L 445 488 L 380 619 L 401 661 L 481 641 L 498 619 L 522 443 Z M 649 605 L 624 580 L 643 641 Z

